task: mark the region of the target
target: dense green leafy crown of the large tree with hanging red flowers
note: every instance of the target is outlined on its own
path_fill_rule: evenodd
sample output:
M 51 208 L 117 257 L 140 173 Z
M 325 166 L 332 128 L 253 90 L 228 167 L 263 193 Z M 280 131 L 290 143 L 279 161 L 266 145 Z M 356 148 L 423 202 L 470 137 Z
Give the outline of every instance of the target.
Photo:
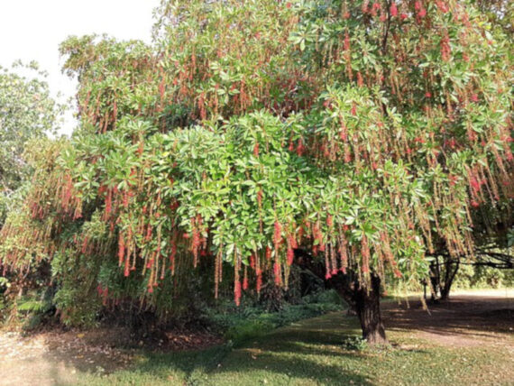
M 217 289 L 230 262 L 239 302 L 263 272 L 287 285 L 298 249 L 327 278 L 418 280 L 427 251 L 473 254 L 473 216 L 511 206 L 511 46 L 473 2 L 158 14 L 151 46 L 62 44 L 80 127 L 4 228 L 5 266 L 68 256 L 106 299 L 151 302 L 178 263 L 214 262 Z

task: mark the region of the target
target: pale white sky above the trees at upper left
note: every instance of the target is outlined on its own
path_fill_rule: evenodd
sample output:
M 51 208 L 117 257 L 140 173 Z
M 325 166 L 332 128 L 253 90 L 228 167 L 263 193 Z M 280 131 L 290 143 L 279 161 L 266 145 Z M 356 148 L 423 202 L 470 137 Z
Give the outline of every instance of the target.
M 0 66 L 36 60 L 49 73 L 53 97 L 75 95 L 76 81 L 61 74 L 59 44 L 69 35 L 107 33 L 151 41 L 152 10 L 160 0 L 0 0 Z M 61 133 L 76 125 L 66 116 Z

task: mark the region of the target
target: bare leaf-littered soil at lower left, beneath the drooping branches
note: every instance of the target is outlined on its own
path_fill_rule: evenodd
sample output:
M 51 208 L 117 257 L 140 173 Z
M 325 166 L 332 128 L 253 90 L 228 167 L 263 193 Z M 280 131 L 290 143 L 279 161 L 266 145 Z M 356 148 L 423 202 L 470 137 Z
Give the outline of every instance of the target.
M 206 331 L 175 330 L 134 342 L 124 328 L 50 331 L 23 336 L 0 332 L 0 385 L 73 384 L 79 372 L 109 373 L 133 363 L 139 349 L 199 350 L 223 340 Z

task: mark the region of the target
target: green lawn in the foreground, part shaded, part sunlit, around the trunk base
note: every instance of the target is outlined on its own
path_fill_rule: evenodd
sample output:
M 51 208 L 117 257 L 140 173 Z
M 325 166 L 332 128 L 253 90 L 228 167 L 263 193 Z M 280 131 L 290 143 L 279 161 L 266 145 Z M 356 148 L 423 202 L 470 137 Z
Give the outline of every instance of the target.
M 238 348 L 142 353 L 129 370 L 78 378 L 87 385 L 152 386 L 509 384 L 506 347 L 452 349 L 392 332 L 392 342 L 410 348 L 355 352 L 342 343 L 359 328 L 354 318 L 341 314 L 303 320 Z

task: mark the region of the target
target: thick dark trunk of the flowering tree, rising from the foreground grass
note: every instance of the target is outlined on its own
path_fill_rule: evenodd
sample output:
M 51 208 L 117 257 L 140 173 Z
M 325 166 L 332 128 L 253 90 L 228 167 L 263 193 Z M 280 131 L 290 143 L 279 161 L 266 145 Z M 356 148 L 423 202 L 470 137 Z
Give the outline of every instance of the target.
M 381 279 L 372 275 L 372 288 L 354 289 L 354 304 L 363 329 L 363 338 L 370 345 L 388 343 L 381 318 Z

